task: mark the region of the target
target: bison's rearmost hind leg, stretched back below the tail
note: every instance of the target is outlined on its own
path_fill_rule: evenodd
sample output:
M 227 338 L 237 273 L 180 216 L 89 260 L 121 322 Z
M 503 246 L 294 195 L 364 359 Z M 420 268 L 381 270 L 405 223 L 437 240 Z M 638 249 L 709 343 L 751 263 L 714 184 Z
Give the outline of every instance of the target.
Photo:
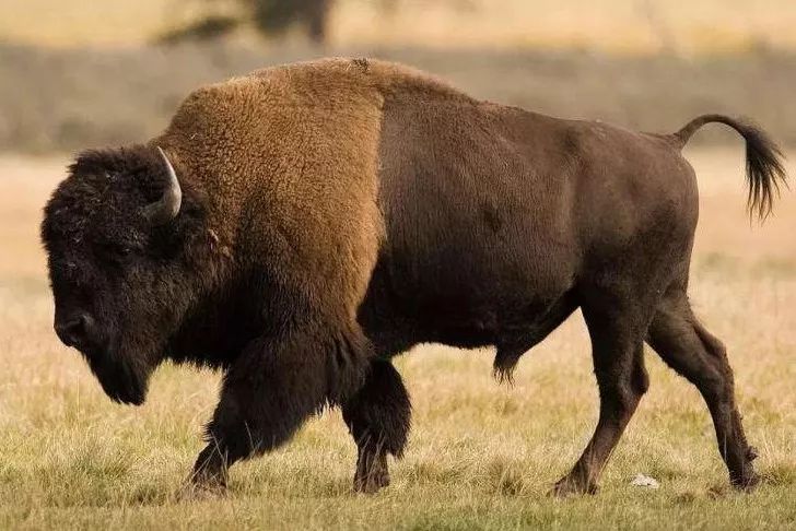
M 733 485 L 753 487 L 759 481 L 752 468 L 757 452 L 744 434 L 726 350 L 696 320 L 683 287 L 671 288 L 658 306 L 647 342 L 667 365 L 696 386 L 704 398 Z

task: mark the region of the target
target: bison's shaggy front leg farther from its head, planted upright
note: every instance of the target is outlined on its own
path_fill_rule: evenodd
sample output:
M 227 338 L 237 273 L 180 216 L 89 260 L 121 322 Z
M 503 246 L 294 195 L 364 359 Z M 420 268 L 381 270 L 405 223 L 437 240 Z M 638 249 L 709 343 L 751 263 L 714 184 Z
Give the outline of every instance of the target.
M 411 404 L 391 363 L 371 364 L 365 384 L 342 406 L 342 416 L 356 441 L 354 489 L 375 493 L 389 484 L 387 453 L 400 458 L 411 422 Z

